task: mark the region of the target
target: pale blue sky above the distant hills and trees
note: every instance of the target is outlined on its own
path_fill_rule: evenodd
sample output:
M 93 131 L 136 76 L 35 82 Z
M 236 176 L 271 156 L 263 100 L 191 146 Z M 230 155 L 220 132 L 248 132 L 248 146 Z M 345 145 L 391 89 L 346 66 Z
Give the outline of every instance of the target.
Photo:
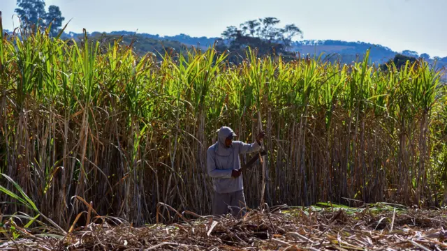
M 16 0 L 0 0 L 5 29 Z M 447 0 L 46 0 L 61 8 L 68 31 L 137 31 L 220 36 L 259 17 L 293 23 L 307 39 L 363 41 L 400 52 L 447 56 Z M 17 20 L 15 20 L 17 26 Z

